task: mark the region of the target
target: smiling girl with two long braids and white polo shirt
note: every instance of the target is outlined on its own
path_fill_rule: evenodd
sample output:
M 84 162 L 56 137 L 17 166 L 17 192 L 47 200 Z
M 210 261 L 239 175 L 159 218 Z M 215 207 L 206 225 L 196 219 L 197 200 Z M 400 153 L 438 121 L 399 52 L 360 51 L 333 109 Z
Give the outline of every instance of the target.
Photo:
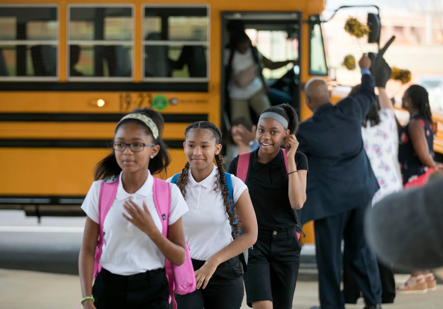
M 189 207 L 183 226 L 197 289 L 175 296 L 179 309 L 239 309 L 243 301 L 238 255 L 255 243 L 257 221 L 248 188 L 233 175 L 231 211 L 220 143 L 221 131 L 211 122 L 194 122 L 185 130 L 187 163 L 176 183 Z

